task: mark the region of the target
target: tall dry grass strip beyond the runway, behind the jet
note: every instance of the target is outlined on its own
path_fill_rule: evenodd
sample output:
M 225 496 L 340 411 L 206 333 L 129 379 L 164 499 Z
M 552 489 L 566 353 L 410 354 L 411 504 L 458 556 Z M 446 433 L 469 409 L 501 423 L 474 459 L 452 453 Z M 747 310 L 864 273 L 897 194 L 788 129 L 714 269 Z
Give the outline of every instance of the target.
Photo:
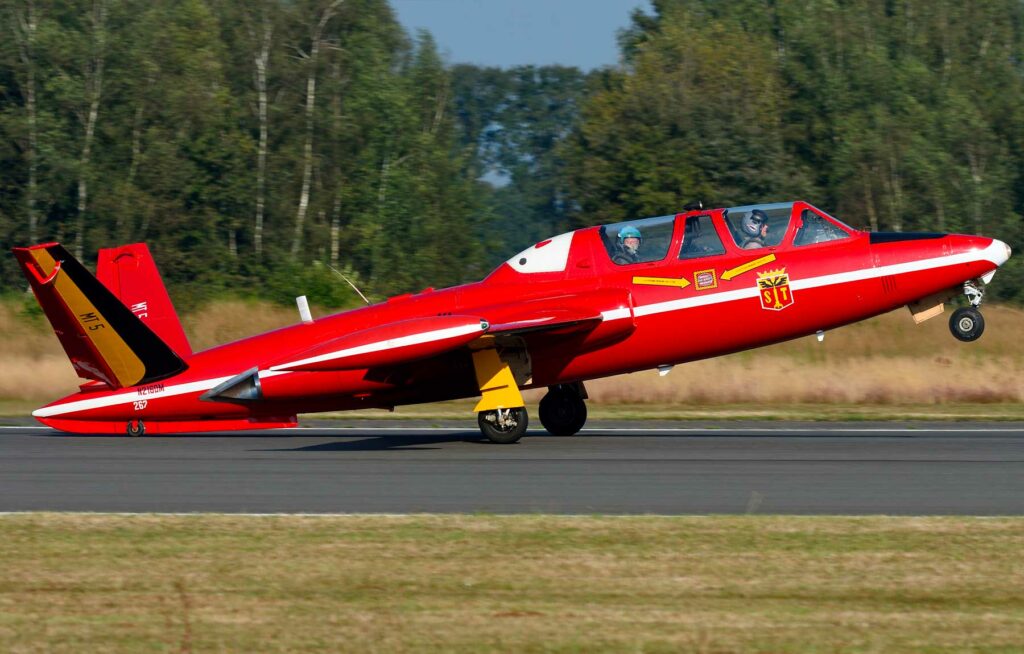
M 314 312 L 315 314 L 316 312 Z M 987 331 L 976 343 L 955 341 L 945 315 L 916 325 L 905 310 L 759 350 L 588 383 L 592 407 L 716 408 L 743 416 L 781 406 L 812 412 L 828 406 L 928 407 L 986 404 L 986 412 L 1019 415 L 1024 405 L 1024 311 L 986 306 Z M 222 301 L 183 316 L 201 350 L 296 320 L 294 309 Z M 42 317 L 16 302 L 0 303 L 0 400 L 41 403 L 73 392 L 77 379 Z M 0 404 L 2 408 L 2 404 Z M 827 411 L 824 411 L 827 413 Z M 849 412 L 844 409 L 841 413 Z

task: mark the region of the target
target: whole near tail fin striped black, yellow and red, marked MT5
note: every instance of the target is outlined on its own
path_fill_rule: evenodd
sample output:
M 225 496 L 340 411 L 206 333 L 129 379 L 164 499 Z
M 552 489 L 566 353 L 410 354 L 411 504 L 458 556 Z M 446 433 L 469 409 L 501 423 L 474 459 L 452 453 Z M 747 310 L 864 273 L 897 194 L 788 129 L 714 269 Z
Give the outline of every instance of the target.
M 59 244 L 13 252 L 80 377 L 118 389 L 166 379 L 188 367 Z

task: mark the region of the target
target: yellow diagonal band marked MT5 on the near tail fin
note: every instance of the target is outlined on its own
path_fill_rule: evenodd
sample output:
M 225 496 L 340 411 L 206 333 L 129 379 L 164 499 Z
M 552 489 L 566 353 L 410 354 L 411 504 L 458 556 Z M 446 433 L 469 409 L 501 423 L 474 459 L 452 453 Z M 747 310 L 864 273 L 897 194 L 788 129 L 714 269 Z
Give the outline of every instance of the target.
M 50 253 L 42 249 L 31 252 L 44 275 L 49 276 L 57 270 L 53 279 L 57 295 L 75 315 L 75 319 L 82 328 L 82 334 L 110 366 L 118 383 L 122 386 L 134 386 L 138 383 L 145 376 L 145 365 L 142 361 L 135 356 L 121 336 L 114 331 L 110 321 L 93 306 L 71 277 L 57 269 L 57 262 Z

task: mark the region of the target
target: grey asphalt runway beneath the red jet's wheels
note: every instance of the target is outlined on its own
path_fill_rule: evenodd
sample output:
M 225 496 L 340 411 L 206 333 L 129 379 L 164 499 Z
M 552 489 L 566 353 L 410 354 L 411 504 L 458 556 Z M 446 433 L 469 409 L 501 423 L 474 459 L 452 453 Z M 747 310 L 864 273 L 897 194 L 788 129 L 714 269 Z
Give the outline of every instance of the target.
M 0 511 L 1024 515 L 1024 423 L 591 422 L 516 445 L 475 421 L 309 424 L 0 427 Z

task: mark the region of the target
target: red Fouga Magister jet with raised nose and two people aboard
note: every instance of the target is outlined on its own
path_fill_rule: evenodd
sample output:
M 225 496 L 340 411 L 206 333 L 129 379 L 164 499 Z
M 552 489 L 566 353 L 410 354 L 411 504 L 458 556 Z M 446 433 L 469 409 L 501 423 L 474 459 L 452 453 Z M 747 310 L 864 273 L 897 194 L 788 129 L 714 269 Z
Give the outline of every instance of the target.
M 148 250 L 99 251 L 97 276 L 58 244 L 16 248 L 80 391 L 33 412 L 52 428 L 130 436 L 293 427 L 298 413 L 479 396 L 483 436 L 526 430 L 520 390 L 547 387 L 544 428 L 578 432 L 586 380 L 812 335 L 965 295 L 957 339 L 984 329 L 1002 242 L 867 233 L 805 202 L 586 227 L 475 284 L 389 298 L 193 352 Z M 301 300 L 301 299 L 300 299 Z

